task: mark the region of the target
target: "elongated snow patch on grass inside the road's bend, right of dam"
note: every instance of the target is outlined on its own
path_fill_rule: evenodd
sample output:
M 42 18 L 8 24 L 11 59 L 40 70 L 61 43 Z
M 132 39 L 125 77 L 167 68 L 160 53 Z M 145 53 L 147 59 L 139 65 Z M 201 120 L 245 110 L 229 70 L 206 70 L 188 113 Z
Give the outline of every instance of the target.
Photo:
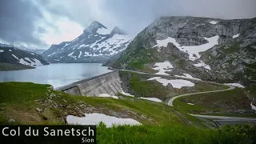
M 192 87 L 194 86 L 193 82 L 184 80 L 184 79 L 165 79 L 165 78 L 161 78 L 161 77 L 153 77 L 153 78 L 149 78 L 148 81 L 152 81 L 152 80 L 156 80 L 160 83 L 162 83 L 162 86 L 167 86 L 169 83 L 171 84 L 171 86 L 173 86 L 174 88 L 177 89 L 181 89 L 183 86 L 189 86 Z

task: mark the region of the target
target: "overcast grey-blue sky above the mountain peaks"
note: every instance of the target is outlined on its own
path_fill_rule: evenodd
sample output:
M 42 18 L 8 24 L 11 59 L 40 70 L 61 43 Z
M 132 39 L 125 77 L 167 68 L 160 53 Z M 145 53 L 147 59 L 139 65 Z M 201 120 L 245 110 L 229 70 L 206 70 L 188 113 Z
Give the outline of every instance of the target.
M 0 0 L 0 42 L 48 49 L 93 21 L 136 36 L 161 16 L 255 18 L 256 0 Z

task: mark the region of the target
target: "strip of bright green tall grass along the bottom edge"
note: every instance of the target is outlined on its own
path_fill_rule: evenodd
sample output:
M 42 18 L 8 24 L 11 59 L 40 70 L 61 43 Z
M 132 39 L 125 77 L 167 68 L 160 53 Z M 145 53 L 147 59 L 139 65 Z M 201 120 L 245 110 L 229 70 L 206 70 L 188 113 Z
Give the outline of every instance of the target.
M 225 126 L 218 130 L 193 126 L 118 126 L 97 129 L 98 143 L 249 144 L 256 142 L 255 126 Z

